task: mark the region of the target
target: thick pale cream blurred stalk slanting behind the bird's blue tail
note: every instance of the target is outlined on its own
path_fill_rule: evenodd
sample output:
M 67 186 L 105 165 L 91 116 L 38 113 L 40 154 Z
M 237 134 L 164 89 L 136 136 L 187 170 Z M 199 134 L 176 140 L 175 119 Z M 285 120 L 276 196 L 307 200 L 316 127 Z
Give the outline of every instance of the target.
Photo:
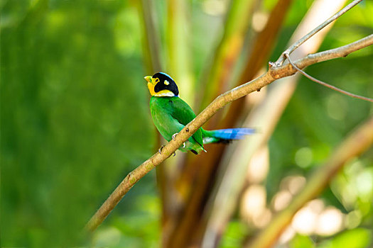
M 340 7 L 338 4 L 342 5 L 344 2 L 345 0 L 338 1 L 337 3 L 335 1 L 331 3 L 327 0 L 315 1 L 294 32 L 291 43 L 301 38 L 304 33 L 308 33 L 310 27 L 317 25 L 320 21 L 320 16 L 315 13 L 322 13 L 323 16 L 321 18 L 328 18 L 329 15 L 335 13 L 335 9 Z M 325 11 L 326 9 L 328 11 Z M 313 40 L 309 41 L 307 47 L 301 47 L 303 49 L 296 50 L 295 55 L 303 57 L 308 53 L 318 50 L 329 28 L 331 26 L 324 29 L 323 32 L 318 33 Z M 288 66 L 291 65 L 288 64 Z M 289 99 L 296 89 L 297 79 L 298 77 L 281 79 L 279 84 L 272 85 L 271 91 L 269 91 L 264 100 L 255 106 L 250 115 L 247 116 L 244 126 L 259 128 L 261 135 L 254 135 L 250 139 L 236 142 L 234 147 L 231 146 L 228 148 L 226 152 L 227 156 L 222 161 L 225 167 L 220 171 L 220 175 L 222 176 L 220 176 L 221 178 L 217 182 L 217 193 L 209 199 L 211 204 L 210 208 L 206 211 L 206 214 L 208 214 L 208 216 L 205 216 L 207 219 L 207 228 L 203 241 L 205 247 L 211 247 L 212 244 L 217 243 L 222 232 L 224 232 L 225 226 L 235 209 L 239 193 L 242 191 L 244 171 L 247 169 L 247 163 L 256 150 L 264 145 L 271 136 L 271 133 L 273 133 L 276 123 L 279 121 L 283 110 L 286 108 Z

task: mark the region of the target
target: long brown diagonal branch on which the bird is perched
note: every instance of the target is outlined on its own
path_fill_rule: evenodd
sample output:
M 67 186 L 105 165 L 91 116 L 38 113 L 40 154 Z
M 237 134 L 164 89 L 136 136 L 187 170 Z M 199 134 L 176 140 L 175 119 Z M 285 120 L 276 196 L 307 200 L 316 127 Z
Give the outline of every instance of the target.
M 373 37 L 370 39 L 373 40 Z M 362 47 L 365 47 L 360 45 L 361 43 L 364 43 L 365 46 L 371 44 L 366 43 L 366 40 L 361 39 L 355 42 L 355 45 L 359 47 L 359 49 L 361 49 Z M 332 50 L 328 50 L 323 52 L 323 54 L 330 60 L 335 57 L 342 57 L 341 55 L 348 55 L 350 52 L 354 51 L 354 49 L 351 49 L 347 46 L 345 46 L 344 49 L 342 49 L 342 47 L 340 48 L 341 50 L 339 50 L 339 53 L 335 53 L 332 55 Z M 327 60 L 325 59 L 325 57 L 320 56 L 320 52 L 316 53 L 313 56 L 318 57 L 318 60 L 320 61 Z M 308 55 L 301 60 L 297 60 L 295 64 L 299 68 L 304 68 L 310 64 L 315 64 L 316 62 L 318 61 Z M 215 100 L 212 101 L 212 103 L 210 103 L 210 105 L 207 106 L 207 108 L 205 108 L 194 120 L 188 123 L 188 125 L 185 125 L 185 128 L 183 128 L 183 130 L 181 130 L 180 133 L 176 135 L 175 140 L 171 140 L 165 147 L 163 147 L 162 154 L 157 152 L 139 167 L 131 171 L 124 178 L 124 180 L 121 181 L 119 186 L 117 186 L 114 192 L 109 196 L 109 198 L 107 198 L 107 200 L 102 204 L 99 210 L 97 210 L 97 212 L 92 216 L 85 227 L 86 230 L 94 231 L 102 223 L 102 221 L 107 218 L 107 215 L 109 215 L 109 213 L 119 203 L 121 198 L 123 198 L 123 196 L 134 186 L 134 184 L 136 184 L 137 181 L 148 174 L 148 172 L 155 168 L 158 164 L 161 164 L 161 162 L 170 157 L 171 154 L 173 154 L 173 152 L 178 149 L 178 147 L 183 145 L 183 142 L 188 140 L 188 138 L 193 135 L 193 133 L 195 133 L 220 108 L 227 105 L 227 103 L 241 98 L 242 96 L 246 96 L 247 94 L 260 90 L 264 86 L 271 84 L 276 79 L 291 76 L 296 72 L 296 69 L 293 68 L 291 64 L 277 67 L 276 65 L 274 65 L 274 63 L 269 63 L 269 70 L 265 74 L 252 81 L 247 82 L 246 84 L 242 84 L 241 86 L 227 91 L 225 92 L 225 94 L 222 94 L 215 98 Z

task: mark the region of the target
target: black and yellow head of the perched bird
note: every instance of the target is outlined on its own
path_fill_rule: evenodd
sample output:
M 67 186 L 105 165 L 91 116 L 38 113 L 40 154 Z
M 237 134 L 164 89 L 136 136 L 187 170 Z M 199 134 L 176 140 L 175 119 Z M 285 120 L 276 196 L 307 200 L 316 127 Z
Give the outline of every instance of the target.
M 158 72 L 153 76 L 146 76 L 144 79 L 148 81 L 151 96 L 179 96 L 178 86 L 166 73 Z

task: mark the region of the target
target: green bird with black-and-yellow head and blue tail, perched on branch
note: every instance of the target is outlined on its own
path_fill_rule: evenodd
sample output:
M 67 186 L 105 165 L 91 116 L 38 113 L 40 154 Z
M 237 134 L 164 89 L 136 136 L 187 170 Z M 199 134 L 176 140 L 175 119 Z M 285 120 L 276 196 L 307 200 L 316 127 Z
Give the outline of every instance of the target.
M 159 133 L 167 140 L 175 140 L 180 130 L 195 118 L 192 108 L 179 97 L 178 86 L 175 81 L 163 72 L 153 76 L 144 77 L 148 81 L 148 89 L 151 94 L 150 111 L 153 123 Z M 200 154 L 206 152 L 203 145 L 217 142 L 228 143 L 231 140 L 240 140 L 245 135 L 254 133 L 252 128 L 229 128 L 222 130 L 198 129 L 179 148 L 182 152 Z M 159 150 L 161 152 L 161 149 Z

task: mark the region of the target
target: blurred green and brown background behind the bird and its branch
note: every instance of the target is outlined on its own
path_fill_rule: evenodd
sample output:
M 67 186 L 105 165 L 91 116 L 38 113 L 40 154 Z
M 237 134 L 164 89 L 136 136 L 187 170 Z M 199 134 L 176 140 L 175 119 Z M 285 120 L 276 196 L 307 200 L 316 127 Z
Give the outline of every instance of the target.
M 232 154 L 246 169 L 237 184 L 230 178 L 239 193 L 226 202 L 231 210 L 221 206 L 228 217 L 214 245 L 249 245 L 372 115 L 372 103 L 303 77 L 294 79 L 295 92 L 271 96 L 271 87 L 262 89 L 244 98 L 240 111 L 228 111 L 232 104 L 206 125 L 245 125 L 265 102 L 288 94 L 263 110 L 278 118 L 264 120 L 272 129 L 254 126 L 256 137 L 268 138 L 252 156 L 237 143 L 208 145 L 210 157 L 176 152 L 141 179 L 95 232 L 82 227 L 121 179 L 164 143 L 148 110 L 145 75 L 171 74 L 198 113 L 218 94 L 263 72 L 310 9 L 325 11 L 320 2 L 0 1 L 1 247 L 200 247 L 216 192 L 234 168 Z M 373 1 L 362 1 L 319 38 L 320 47 L 310 46 L 328 50 L 373 33 L 372 13 Z M 278 25 L 268 25 L 271 20 Z M 258 37 L 265 48 L 256 47 Z M 307 72 L 372 97 L 373 47 Z M 350 159 L 296 213 L 275 246 L 371 247 L 372 166 L 372 149 Z

